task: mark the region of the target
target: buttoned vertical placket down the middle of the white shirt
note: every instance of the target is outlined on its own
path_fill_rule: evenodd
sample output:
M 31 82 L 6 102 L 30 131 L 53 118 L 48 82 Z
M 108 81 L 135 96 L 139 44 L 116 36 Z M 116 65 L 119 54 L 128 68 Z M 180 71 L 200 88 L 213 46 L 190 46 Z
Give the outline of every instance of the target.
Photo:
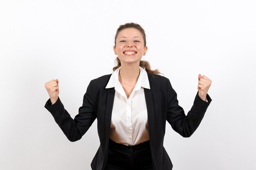
M 132 145 L 132 107 L 131 100 L 126 99 L 126 129 L 127 129 L 127 144 Z

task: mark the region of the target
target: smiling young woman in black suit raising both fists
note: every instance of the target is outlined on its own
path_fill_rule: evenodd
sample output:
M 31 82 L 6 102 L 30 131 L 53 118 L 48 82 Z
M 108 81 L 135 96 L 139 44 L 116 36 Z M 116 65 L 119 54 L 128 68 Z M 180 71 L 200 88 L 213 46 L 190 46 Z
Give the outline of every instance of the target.
M 58 79 L 45 83 L 50 97 L 45 108 L 70 141 L 81 139 L 97 119 L 100 146 L 92 170 L 171 170 L 163 146 L 166 120 L 177 133 L 189 137 L 211 102 L 207 94 L 211 80 L 199 74 L 198 93 L 186 116 L 168 78 L 141 61 L 147 49 L 139 24 L 119 26 L 114 46 L 117 66 L 112 74 L 89 83 L 74 120 L 58 97 Z

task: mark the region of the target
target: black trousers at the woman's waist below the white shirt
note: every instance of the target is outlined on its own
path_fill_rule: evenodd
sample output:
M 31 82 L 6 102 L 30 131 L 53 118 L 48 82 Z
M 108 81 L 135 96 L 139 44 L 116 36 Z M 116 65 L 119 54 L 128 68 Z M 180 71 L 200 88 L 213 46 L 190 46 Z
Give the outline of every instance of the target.
M 109 139 L 105 170 L 153 170 L 149 141 L 126 146 Z

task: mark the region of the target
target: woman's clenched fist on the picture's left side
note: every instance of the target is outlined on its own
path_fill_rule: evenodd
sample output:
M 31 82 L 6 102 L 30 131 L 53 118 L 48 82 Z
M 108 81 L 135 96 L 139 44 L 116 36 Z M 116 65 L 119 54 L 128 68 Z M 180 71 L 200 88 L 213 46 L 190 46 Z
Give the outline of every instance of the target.
M 45 88 L 50 96 L 52 105 L 58 100 L 58 79 L 45 83 Z

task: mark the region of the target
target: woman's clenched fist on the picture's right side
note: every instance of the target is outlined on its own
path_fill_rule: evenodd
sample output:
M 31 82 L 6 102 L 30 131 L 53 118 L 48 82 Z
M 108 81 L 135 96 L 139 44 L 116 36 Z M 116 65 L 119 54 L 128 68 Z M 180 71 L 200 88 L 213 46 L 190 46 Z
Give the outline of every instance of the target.
M 198 75 L 198 95 L 202 100 L 206 100 L 206 95 L 211 86 L 211 80 L 207 76 Z

